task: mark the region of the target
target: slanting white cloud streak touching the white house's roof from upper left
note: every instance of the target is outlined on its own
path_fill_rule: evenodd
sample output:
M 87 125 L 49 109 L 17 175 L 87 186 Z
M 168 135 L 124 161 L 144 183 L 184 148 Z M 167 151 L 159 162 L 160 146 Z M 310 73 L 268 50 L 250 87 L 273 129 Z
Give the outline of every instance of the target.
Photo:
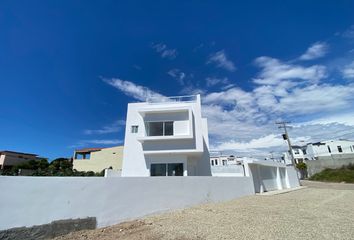
M 146 101 L 146 99 L 148 98 L 164 98 L 163 95 L 151 91 L 147 87 L 136 85 L 135 83 L 130 81 L 125 81 L 119 78 L 103 79 L 103 81 L 122 91 L 126 95 L 138 99 L 140 101 Z

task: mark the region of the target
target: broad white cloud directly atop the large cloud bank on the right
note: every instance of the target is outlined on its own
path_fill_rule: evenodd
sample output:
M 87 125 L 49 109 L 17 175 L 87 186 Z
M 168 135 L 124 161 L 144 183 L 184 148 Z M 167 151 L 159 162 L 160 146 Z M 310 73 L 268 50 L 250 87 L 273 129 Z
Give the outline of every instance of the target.
M 303 67 L 283 63 L 276 58 L 265 56 L 258 57 L 255 63 L 262 68 L 257 78 L 253 80 L 257 84 L 276 85 L 283 80 L 310 81 L 316 83 L 327 77 L 326 67 L 321 65 Z

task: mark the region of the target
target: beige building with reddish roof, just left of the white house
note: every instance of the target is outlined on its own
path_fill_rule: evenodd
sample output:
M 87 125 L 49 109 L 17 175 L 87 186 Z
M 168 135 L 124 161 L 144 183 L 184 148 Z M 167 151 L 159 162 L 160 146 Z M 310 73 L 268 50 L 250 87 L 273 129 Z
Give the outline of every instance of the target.
M 101 172 L 106 168 L 122 170 L 123 146 L 109 148 L 85 148 L 76 150 L 73 169 Z

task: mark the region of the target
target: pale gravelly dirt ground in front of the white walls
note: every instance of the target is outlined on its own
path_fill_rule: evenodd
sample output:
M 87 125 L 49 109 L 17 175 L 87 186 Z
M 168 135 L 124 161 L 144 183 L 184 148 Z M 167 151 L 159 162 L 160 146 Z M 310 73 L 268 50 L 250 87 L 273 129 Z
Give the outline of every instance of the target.
M 304 184 L 293 192 L 200 205 L 56 240 L 354 239 L 354 185 Z

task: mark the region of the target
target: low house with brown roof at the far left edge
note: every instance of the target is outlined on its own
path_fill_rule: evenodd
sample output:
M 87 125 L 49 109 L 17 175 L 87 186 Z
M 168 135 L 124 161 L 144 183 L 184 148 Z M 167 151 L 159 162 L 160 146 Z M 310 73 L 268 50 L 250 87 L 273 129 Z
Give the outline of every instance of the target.
M 13 166 L 37 160 L 37 154 L 14 151 L 0 151 L 0 169 L 9 169 Z

